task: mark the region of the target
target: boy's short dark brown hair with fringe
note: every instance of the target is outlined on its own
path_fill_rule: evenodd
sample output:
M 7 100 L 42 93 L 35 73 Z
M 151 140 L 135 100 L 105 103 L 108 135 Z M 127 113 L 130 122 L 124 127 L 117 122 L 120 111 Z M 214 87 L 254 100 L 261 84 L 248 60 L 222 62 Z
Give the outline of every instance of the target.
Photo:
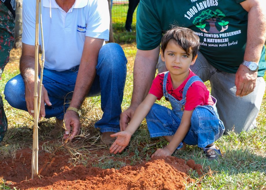
M 166 46 L 170 40 L 173 40 L 177 45 L 179 45 L 186 54 L 191 54 L 194 57 L 197 55 L 199 50 L 199 36 L 194 34 L 194 32 L 189 28 L 175 27 L 168 30 L 164 36 L 162 36 L 161 51 L 164 55 Z

